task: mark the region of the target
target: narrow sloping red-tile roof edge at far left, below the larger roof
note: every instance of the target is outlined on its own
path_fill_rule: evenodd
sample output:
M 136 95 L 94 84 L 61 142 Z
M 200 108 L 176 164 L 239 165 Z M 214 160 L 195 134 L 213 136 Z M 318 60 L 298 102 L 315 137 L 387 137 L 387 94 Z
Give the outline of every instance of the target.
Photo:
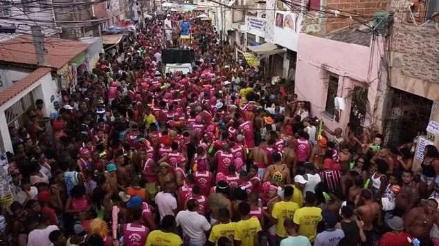
M 24 91 L 24 89 L 37 82 L 48 73 L 51 73 L 51 68 L 38 68 L 32 73 L 26 75 L 26 77 L 24 77 L 23 79 L 15 82 L 15 84 L 13 84 L 12 86 L 9 86 L 8 88 L 1 91 L 0 106 L 3 105 L 5 102 L 11 100 L 13 97 L 21 93 L 21 91 Z

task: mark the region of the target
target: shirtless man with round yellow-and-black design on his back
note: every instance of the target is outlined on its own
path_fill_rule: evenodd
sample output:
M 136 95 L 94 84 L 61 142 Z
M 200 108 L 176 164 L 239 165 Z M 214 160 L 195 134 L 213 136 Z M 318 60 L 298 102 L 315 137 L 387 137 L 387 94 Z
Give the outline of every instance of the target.
M 278 185 L 280 183 L 285 183 L 286 185 L 291 184 L 292 179 L 289 175 L 289 169 L 286 164 L 283 164 L 282 155 L 280 155 L 280 153 L 274 153 L 273 161 L 274 164 L 270 165 L 265 170 L 262 182 L 269 181 L 274 185 Z

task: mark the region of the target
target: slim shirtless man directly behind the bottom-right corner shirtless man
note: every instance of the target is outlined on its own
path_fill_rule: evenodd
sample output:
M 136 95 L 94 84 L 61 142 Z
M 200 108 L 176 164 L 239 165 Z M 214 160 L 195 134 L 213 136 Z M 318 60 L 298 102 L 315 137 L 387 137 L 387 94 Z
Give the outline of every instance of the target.
M 413 181 L 413 171 L 404 170 L 402 171 L 402 189 L 400 193 L 397 194 L 395 200 L 395 211 L 394 216 L 399 216 L 404 218 L 413 207 L 415 207 L 416 202 L 419 198 L 419 187 L 415 181 Z

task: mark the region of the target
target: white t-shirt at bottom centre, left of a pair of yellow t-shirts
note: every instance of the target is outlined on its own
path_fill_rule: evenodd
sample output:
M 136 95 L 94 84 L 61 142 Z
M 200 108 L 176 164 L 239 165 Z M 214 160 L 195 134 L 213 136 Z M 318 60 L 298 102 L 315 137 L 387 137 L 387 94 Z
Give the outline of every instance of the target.
M 206 234 L 204 231 L 210 229 L 210 223 L 206 217 L 201 216 L 197 211 L 179 211 L 175 218 L 177 225 L 183 230 L 183 237 L 188 235 L 192 245 L 204 245 L 206 243 Z

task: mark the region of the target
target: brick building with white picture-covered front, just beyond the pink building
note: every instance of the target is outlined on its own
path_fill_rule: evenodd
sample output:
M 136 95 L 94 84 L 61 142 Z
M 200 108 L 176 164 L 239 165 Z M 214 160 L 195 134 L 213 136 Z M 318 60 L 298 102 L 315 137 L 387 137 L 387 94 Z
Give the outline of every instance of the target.
M 367 22 L 373 13 L 383 10 L 385 0 L 267 0 L 264 41 L 278 46 L 265 64 L 269 76 L 294 80 L 298 38 L 301 32 L 325 37 L 352 24 Z M 286 4 L 288 3 L 288 4 Z M 325 8 L 323 8 L 325 7 Z M 364 16 L 368 16 L 368 19 Z M 361 16 L 361 18 L 360 18 Z M 352 17 L 352 19 L 350 18 Z M 268 51 L 268 50 L 267 50 Z

